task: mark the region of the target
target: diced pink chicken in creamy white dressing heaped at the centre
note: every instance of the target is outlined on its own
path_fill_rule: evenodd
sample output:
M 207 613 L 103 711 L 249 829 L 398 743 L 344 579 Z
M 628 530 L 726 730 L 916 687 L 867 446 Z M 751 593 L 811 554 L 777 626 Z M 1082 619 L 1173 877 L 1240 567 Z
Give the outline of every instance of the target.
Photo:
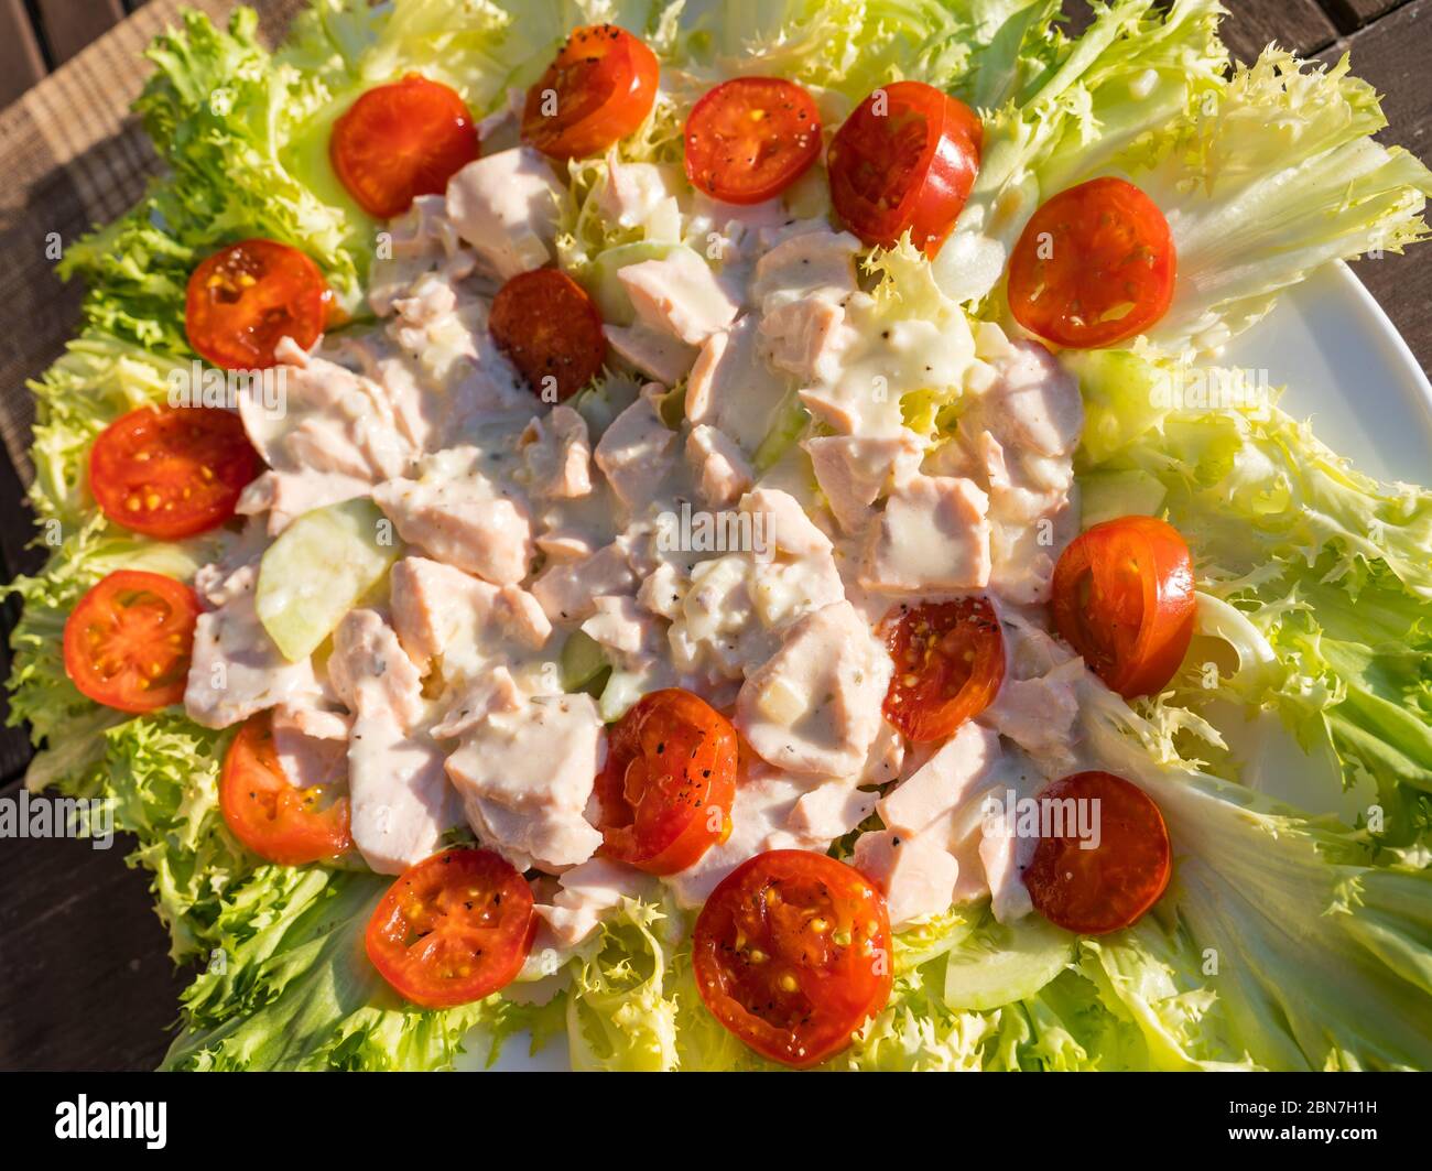
M 988 830 L 981 797 L 1032 793 L 1074 759 L 1084 667 L 1035 606 L 1078 523 L 1073 379 L 932 283 L 878 285 L 823 216 L 720 205 L 613 157 L 597 212 L 689 246 L 616 271 L 633 311 L 607 324 L 616 372 L 544 404 L 487 315 L 503 279 L 553 261 L 564 198 L 526 149 L 471 163 L 390 225 L 375 326 L 284 348 L 288 411 L 242 408 L 269 465 L 242 511 L 266 520 L 241 564 L 200 574 L 190 714 L 222 727 L 276 706 L 291 779 L 347 780 L 375 870 L 465 823 L 553 876 L 538 915 L 558 951 L 652 889 L 594 857 L 593 780 L 604 724 L 667 686 L 729 713 L 750 749 L 730 837 L 663 880 L 683 906 L 753 853 L 825 850 L 878 812 L 855 860 L 896 926 L 985 896 L 1001 920 L 1027 913 L 1025 846 Z M 948 405 L 955 435 L 916 428 L 912 395 Z M 811 419 L 778 442 L 795 402 Z M 402 550 L 288 663 L 253 613 L 258 558 L 299 512 L 354 497 Z M 1008 681 L 947 744 L 911 749 L 882 716 L 876 627 L 969 590 L 1001 610 Z M 577 633 L 610 667 L 596 699 L 563 694 Z

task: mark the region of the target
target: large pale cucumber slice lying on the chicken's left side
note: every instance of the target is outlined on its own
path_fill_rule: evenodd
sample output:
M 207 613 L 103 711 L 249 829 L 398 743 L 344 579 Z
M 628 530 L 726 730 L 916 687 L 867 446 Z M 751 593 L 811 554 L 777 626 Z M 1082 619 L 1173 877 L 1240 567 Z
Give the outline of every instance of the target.
M 391 521 L 371 500 L 304 512 L 259 561 L 259 621 L 285 659 L 306 659 L 398 558 Z

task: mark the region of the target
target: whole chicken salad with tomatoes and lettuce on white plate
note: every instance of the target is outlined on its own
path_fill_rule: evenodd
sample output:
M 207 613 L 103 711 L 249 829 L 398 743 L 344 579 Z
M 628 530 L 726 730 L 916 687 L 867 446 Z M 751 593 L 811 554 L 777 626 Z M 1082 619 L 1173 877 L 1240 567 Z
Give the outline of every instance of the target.
M 1221 16 L 160 36 L 10 691 L 165 1068 L 1432 1066 L 1432 173 Z

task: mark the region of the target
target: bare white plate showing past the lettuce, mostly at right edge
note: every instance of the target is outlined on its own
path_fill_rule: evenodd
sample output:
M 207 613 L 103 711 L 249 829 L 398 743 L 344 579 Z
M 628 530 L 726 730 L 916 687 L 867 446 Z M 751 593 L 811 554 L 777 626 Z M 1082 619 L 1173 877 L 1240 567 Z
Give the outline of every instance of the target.
M 1219 362 L 1266 372 L 1269 385 L 1286 387 L 1283 409 L 1310 418 L 1323 442 L 1366 474 L 1432 481 L 1432 384 L 1348 265 L 1329 265 L 1286 293 Z M 1276 724 L 1250 724 L 1246 737 L 1230 740 L 1242 740 L 1259 759 L 1257 777 L 1246 780 L 1260 789 L 1312 813 L 1345 819 L 1363 805 L 1363 795 L 1345 795 L 1336 782 L 1327 784 L 1323 800 L 1310 800 L 1309 776 L 1319 766 L 1302 757 Z M 460 1068 L 481 1068 L 481 1061 L 471 1054 Z M 567 1045 L 554 1039 L 531 1056 L 526 1038 L 513 1038 L 493 1068 L 567 1069 Z

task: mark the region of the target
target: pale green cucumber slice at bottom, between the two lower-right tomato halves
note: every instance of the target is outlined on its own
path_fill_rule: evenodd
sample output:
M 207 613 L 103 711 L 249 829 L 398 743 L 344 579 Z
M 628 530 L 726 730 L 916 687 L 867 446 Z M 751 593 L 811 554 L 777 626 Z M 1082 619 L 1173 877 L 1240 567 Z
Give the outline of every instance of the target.
M 1010 926 L 991 920 L 945 959 L 945 1005 L 961 1012 L 1027 999 L 1068 966 L 1075 941 L 1037 913 Z

